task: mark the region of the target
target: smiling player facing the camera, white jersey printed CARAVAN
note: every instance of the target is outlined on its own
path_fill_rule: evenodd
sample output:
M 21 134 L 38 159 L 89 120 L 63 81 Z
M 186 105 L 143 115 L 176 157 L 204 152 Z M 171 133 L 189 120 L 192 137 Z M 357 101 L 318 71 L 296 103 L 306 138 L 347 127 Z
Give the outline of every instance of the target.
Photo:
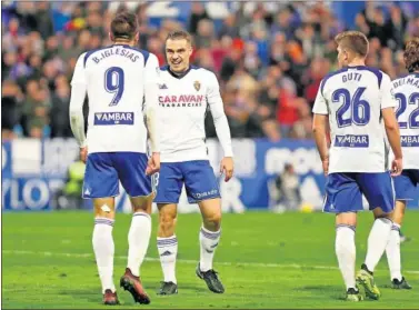
M 159 294 L 178 292 L 174 272 L 178 241 L 174 228 L 183 184 L 189 202 L 199 204 L 203 221 L 199 233 L 200 262 L 197 276 L 206 281 L 211 291 L 225 291 L 212 269 L 221 233 L 221 200 L 207 154 L 207 111 L 211 111 L 225 152 L 220 172 L 226 172 L 226 181 L 233 173 L 230 129 L 215 73 L 190 66 L 191 53 L 191 37 L 188 32 L 169 33 L 166 41 L 169 66 L 161 68 L 159 81 L 161 169 L 154 202 L 159 208 L 157 246 L 164 276 Z

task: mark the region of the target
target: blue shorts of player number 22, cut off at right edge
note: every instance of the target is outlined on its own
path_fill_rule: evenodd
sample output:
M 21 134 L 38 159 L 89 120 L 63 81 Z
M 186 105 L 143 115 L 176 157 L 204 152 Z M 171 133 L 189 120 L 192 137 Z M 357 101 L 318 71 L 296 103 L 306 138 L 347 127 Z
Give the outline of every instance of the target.
M 393 178 L 396 200 L 413 200 L 419 191 L 419 169 L 406 169 Z

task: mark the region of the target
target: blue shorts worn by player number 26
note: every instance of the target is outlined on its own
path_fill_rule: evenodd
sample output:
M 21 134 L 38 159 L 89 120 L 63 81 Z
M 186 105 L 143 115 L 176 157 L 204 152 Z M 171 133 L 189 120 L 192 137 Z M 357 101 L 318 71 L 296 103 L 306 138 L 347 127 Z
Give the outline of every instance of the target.
M 323 212 L 343 213 L 362 211 L 362 193 L 369 209 L 380 207 L 390 213 L 395 208 L 395 189 L 390 172 L 330 173 L 326 183 Z

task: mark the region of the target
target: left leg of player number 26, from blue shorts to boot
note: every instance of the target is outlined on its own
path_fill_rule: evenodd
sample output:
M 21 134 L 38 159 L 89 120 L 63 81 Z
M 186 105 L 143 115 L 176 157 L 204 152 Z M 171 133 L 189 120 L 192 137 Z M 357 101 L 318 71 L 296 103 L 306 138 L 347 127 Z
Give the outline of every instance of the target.
M 335 251 L 342 274 L 348 301 L 360 301 L 356 284 L 356 244 L 357 211 L 362 210 L 362 196 L 353 173 L 331 173 L 326 184 L 323 211 L 337 213 Z

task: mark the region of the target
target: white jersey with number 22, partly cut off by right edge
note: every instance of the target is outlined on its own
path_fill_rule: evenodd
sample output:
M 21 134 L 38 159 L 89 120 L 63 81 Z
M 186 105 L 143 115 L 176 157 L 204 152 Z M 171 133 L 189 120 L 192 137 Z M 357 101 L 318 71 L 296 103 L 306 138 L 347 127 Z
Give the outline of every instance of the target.
M 399 102 L 396 116 L 400 127 L 403 169 L 419 169 L 419 73 L 396 79 L 392 86 Z

